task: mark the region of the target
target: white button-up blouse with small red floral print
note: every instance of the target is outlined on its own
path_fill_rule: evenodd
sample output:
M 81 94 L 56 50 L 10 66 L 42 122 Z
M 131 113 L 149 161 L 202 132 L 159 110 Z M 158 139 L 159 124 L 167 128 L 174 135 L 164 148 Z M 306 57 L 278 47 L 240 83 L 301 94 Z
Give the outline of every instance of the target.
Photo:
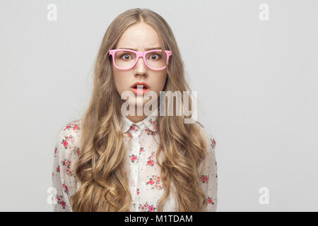
M 124 147 L 127 150 L 124 164 L 126 173 L 129 174 L 129 189 L 132 196 L 131 210 L 133 211 L 157 211 L 156 203 L 163 195 L 165 188 L 160 180 L 160 167 L 156 163 L 156 150 L 160 137 L 155 126 L 158 109 L 148 115 L 142 121 L 133 123 L 123 115 L 122 133 L 131 135 L 124 138 Z M 216 211 L 218 204 L 217 189 L 218 175 L 214 141 L 211 133 L 201 127 L 201 132 L 206 141 L 208 157 L 200 165 L 200 186 L 206 194 L 207 208 L 205 211 Z M 57 189 L 54 194 L 54 211 L 72 211 L 69 198 L 80 187 L 73 173 L 73 165 L 81 153 L 80 134 L 81 119 L 69 122 L 57 136 L 54 147 L 54 161 L 52 168 L 52 186 Z M 163 160 L 162 152 L 158 159 Z M 163 206 L 163 211 L 178 211 L 174 194 L 175 187 L 171 184 L 170 197 Z

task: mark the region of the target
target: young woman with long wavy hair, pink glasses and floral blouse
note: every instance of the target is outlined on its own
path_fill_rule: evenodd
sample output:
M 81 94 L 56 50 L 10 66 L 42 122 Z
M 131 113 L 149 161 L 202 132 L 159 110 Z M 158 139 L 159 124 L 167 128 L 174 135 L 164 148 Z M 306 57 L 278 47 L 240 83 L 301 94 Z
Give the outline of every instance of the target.
M 54 211 L 216 211 L 211 132 L 185 124 L 184 114 L 162 115 L 162 102 L 150 114 L 123 114 L 125 103 L 136 110 L 169 90 L 191 91 L 170 26 L 148 9 L 117 16 L 95 62 L 90 105 L 57 138 Z M 126 91 L 136 98 L 122 98 Z M 158 98 L 140 95 L 150 91 Z

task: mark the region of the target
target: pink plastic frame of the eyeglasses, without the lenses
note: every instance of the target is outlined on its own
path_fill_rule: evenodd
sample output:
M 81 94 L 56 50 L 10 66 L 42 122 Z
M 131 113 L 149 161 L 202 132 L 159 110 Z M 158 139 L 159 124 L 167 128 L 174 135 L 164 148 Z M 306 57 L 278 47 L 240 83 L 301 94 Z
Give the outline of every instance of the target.
M 136 66 L 137 62 L 139 61 L 139 57 L 142 57 L 143 58 L 143 62 L 146 64 L 146 66 L 148 67 L 148 69 L 151 69 L 153 71 L 161 71 L 163 69 L 166 68 L 167 64 L 168 64 L 168 61 L 169 61 L 169 57 L 172 55 L 172 52 L 170 50 L 165 50 L 165 54 L 167 56 L 167 64 L 161 68 L 161 69 L 153 69 L 151 66 L 149 66 L 147 64 L 147 61 L 146 61 L 146 54 L 148 54 L 148 52 L 155 52 L 155 51 L 162 51 L 163 49 L 151 49 L 151 50 L 148 50 L 148 51 L 145 51 L 145 52 L 138 52 L 138 51 L 134 51 L 132 49 L 110 49 L 110 52 L 108 53 L 108 55 L 112 55 L 112 63 L 114 64 L 114 66 L 119 69 L 119 70 L 130 70 L 132 68 L 134 68 L 134 66 Z M 118 51 L 128 51 L 128 52 L 133 52 L 134 54 L 136 54 L 136 61 L 135 63 L 133 64 L 133 66 L 131 66 L 129 69 L 121 69 L 119 68 L 115 62 L 114 62 L 114 55 L 116 54 L 116 52 Z

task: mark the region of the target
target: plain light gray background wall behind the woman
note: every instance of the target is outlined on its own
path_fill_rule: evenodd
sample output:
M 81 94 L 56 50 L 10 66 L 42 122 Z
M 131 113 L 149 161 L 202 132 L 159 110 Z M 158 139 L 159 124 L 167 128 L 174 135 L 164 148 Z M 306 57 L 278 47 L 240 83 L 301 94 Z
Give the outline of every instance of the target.
M 57 4 L 57 21 L 47 5 Z M 259 20 L 259 5 L 269 20 Z M 150 8 L 170 24 L 216 139 L 218 211 L 317 211 L 317 1 L 4 1 L 1 211 L 52 211 L 57 133 L 86 109 L 111 21 Z M 259 189 L 269 189 L 269 205 Z

